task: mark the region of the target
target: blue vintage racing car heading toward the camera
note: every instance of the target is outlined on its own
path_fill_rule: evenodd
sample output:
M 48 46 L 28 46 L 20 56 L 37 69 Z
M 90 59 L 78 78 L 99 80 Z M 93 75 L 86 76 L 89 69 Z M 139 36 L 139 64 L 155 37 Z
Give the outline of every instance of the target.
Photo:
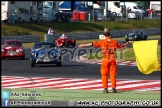
M 56 64 L 61 66 L 61 52 L 55 42 L 35 42 L 31 48 L 31 67 L 35 64 Z

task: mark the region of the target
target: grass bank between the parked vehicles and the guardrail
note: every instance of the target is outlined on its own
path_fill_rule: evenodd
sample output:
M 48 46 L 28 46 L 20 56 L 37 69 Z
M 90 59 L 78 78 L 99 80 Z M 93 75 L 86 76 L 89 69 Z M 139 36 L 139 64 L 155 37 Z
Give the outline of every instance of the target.
M 107 22 L 39 22 L 39 23 L 15 23 L 1 24 L 1 36 L 18 36 L 38 34 L 40 39 L 44 40 L 44 34 L 48 28 L 52 27 L 56 33 L 69 32 L 88 32 L 88 31 L 103 31 L 104 27 L 109 30 L 133 30 L 133 29 L 148 29 L 161 28 L 161 20 L 129 20 L 107 21 Z

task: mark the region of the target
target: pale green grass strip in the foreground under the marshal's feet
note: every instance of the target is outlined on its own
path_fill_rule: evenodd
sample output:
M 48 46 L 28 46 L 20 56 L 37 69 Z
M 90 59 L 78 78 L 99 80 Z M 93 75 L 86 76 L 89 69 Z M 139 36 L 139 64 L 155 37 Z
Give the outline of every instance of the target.
M 22 92 L 26 93 L 40 93 L 41 97 L 10 97 L 10 99 L 20 99 L 20 100 L 59 100 L 59 101 L 80 101 L 80 100 L 90 100 L 90 101 L 110 101 L 110 100 L 120 100 L 120 101 L 144 101 L 148 100 L 152 102 L 154 100 L 158 101 L 158 105 L 161 105 L 161 95 L 160 92 L 153 91 L 118 91 L 118 93 L 103 94 L 102 90 L 73 90 L 73 89 L 2 89 L 2 91 L 10 91 L 12 93 Z

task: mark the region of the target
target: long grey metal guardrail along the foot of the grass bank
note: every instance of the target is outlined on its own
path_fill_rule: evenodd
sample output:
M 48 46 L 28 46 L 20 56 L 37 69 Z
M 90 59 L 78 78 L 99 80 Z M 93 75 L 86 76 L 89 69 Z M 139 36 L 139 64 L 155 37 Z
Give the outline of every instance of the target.
M 138 31 L 144 31 L 148 36 L 151 35 L 160 35 L 161 34 L 161 28 L 153 28 L 153 29 L 136 29 Z M 135 30 L 113 30 L 110 31 L 112 37 L 124 37 L 126 34 L 131 33 Z M 87 40 L 87 39 L 99 39 L 99 35 L 103 34 L 103 31 L 101 32 L 80 32 L 80 33 L 65 33 L 68 34 L 69 37 L 74 38 L 75 40 Z M 51 35 L 50 40 L 57 39 L 62 34 L 54 34 Z M 24 36 L 2 36 L 1 37 L 1 43 L 4 42 L 4 40 L 8 39 L 19 39 L 23 43 L 30 43 L 30 42 L 36 42 L 40 41 L 39 35 L 24 35 Z

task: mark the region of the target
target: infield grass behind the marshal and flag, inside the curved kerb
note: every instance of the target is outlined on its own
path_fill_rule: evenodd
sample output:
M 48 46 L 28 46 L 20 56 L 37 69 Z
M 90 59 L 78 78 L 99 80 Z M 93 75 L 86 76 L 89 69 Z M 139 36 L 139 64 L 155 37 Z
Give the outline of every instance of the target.
M 133 48 L 117 50 L 115 52 L 115 56 L 117 60 L 136 61 Z M 161 61 L 161 46 L 160 45 L 158 46 L 157 56 L 158 56 L 158 60 Z M 102 57 L 101 52 L 98 52 L 97 54 L 91 53 L 86 56 L 86 58 L 89 60 L 101 60 L 101 57 Z

